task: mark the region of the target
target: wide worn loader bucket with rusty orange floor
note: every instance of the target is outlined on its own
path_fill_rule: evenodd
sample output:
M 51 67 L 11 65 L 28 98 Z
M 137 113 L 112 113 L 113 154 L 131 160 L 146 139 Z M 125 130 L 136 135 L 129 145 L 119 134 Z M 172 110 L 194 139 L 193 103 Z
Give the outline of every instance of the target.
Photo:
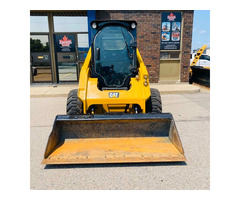
M 185 160 L 171 114 L 58 115 L 42 164 Z

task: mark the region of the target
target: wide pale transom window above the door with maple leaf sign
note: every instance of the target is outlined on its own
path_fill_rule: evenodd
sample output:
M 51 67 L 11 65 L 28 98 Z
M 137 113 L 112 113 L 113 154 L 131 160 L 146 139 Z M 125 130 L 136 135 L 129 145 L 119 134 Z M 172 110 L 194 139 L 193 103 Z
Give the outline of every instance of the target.
M 55 32 L 88 32 L 87 16 L 53 17 Z

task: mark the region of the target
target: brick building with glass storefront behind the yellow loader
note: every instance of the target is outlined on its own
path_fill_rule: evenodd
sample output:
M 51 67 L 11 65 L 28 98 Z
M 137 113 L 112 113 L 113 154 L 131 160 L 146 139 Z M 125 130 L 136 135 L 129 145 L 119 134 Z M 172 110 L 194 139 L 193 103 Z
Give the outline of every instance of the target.
M 189 64 L 192 44 L 193 11 L 119 11 L 119 10 L 97 10 L 97 11 L 31 11 L 31 38 L 32 41 L 40 39 L 42 43 L 50 46 L 48 48 L 48 68 L 42 67 L 42 74 L 48 73 L 47 80 L 37 79 L 34 75 L 37 64 L 32 66 L 31 82 L 64 82 L 78 81 L 79 69 L 84 61 L 86 52 L 91 43 L 90 22 L 92 20 L 135 20 L 137 22 L 137 45 L 143 61 L 150 75 L 150 82 L 178 83 L 188 82 Z M 66 19 L 66 16 L 67 19 Z M 46 31 L 39 28 L 34 29 L 34 22 L 45 17 Z M 79 29 L 71 27 L 69 19 L 77 19 Z M 69 23 L 65 28 L 61 25 Z M 60 22 L 59 22 L 60 21 Z M 39 21 L 38 21 L 39 23 Z M 83 27 L 81 29 L 81 26 Z M 43 39 L 43 35 L 47 39 Z M 76 43 L 73 48 L 71 61 L 66 60 L 55 47 L 56 38 L 64 37 Z M 41 39 L 42 38 L 42 39 Z M 44 40 L 46 40 L 44 42 Z M 33 44 L 34 45 L 34 44 Z M 43 45 L 44 46 L 44 45 Z M 38 51 L 37 54 L 41 54 Z M 36 52 L 31 54 L 35 55 Z M 39 54 L 39 55 L 40 55 Z M 43 57 L 34 57 L 37 58 Z M 34 62 L 33 62 L 34 63 Z M 64 64 L 65 63 L 65 64 Z M 43 65 L 44 66 L 44 65 Z M 68 67 L 66 67 L 68 66 Z M 71 67 L 69 67 L 71 66 Z M 48 72 L 47 72 L 48 69 Z M 40 72 L 40 67 L 38 71 Z M 71 75 L 67 75 L 70 74 Z M 75 77 L 72 76 L 75 73 Z M 38 73 L 39 74 L 39 73 Z M 44 76 L 42 76 L 43 78 Z M 68 78 L 67 78 L 68 77 Z

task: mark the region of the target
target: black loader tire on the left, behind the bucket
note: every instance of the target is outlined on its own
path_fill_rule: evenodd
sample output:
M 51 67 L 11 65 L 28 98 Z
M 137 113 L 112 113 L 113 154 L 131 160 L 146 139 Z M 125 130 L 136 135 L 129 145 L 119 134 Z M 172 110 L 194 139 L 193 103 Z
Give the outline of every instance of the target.
M 80 115 L 83 113 L 82 102 L 79 100 L 78 89 L 71 90 L 67 98 L 67 115 Z

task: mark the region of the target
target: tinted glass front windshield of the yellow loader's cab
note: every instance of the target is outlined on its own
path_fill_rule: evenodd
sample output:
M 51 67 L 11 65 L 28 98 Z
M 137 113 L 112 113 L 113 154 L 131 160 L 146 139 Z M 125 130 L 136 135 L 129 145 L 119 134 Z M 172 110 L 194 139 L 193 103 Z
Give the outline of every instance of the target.
M 94 70 L 107 86 L 122 86 L 134 67 L 132 34 L 121 26 L 103 28 L 94 39 Z

